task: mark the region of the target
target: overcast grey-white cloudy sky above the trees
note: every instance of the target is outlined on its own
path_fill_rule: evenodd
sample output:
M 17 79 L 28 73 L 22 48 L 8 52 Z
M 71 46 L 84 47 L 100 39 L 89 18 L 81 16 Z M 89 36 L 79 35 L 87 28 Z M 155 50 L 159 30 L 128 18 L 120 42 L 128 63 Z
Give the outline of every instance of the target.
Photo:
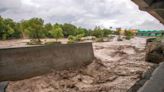
M 15 21 L 40 17 L 45 23 L 93 28 L 164 29 L 130 0 L 0 0 L 0 15 Z

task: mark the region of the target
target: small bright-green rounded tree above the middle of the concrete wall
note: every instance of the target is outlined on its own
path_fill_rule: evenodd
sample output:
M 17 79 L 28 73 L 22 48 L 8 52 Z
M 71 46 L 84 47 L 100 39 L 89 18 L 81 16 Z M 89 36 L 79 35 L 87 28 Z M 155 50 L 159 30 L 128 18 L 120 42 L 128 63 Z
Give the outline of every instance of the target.
M 59 38 L 62 38 L 64 36 L 62 28 L 56 25 L 54 25 L 54 27 L 50 31 L 50 34 L 56 39 L 56 42 Z

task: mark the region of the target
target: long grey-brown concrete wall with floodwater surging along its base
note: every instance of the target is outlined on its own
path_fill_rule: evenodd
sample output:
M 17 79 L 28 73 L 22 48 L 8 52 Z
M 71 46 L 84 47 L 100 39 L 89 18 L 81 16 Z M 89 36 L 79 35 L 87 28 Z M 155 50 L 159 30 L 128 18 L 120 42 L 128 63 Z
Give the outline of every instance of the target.
M 94 59 L 92 43 L 0 49 L 0 81 L 78 69 Z

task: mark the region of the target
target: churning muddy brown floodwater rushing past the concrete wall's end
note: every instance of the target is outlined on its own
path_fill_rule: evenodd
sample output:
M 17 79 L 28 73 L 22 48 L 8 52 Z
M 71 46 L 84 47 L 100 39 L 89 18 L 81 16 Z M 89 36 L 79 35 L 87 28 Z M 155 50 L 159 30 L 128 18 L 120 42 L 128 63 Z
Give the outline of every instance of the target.
M 152 64 L 145 39 L 93 43 L 96 60 L 80 70 L 54 71 L 9 82 L 7 92 L 126 92 Z

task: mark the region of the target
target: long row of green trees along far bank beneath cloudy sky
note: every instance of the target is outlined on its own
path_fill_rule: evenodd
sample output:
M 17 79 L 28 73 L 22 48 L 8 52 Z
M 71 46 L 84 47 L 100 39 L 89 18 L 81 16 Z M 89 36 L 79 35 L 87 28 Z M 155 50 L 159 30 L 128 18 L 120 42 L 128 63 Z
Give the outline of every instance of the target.
M 2 18 L 0 16 L 0 40 L 19 39 L 19 38 L 59 38 L 69 36 L 95 36 L 105 37 L 112 34 L 113 31 L 109 29 L 102 29 L 95 27 L 93 30 L 82 27 L 77 27 L 73 24 L 51 24 L 44 23 L 41 18 L 31 18 L 29 20 L 22 20 L 15 22 L 10 18 Z

